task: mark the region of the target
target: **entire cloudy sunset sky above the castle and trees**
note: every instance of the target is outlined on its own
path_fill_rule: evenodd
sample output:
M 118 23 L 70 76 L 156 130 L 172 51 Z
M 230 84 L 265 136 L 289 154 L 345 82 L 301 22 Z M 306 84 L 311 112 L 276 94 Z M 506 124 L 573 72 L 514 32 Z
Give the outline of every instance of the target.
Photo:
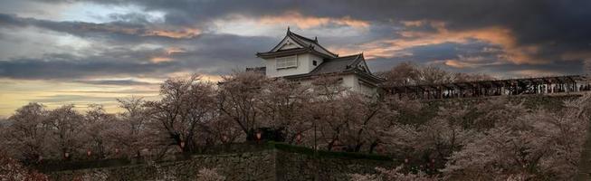
M 158 83 L 261 66 L 287 27 L 372 71 L 399 62 L 498 78 L 582 73 L 588 0 L 0 0 L 0 116 L 116 98 L 156 99 Z

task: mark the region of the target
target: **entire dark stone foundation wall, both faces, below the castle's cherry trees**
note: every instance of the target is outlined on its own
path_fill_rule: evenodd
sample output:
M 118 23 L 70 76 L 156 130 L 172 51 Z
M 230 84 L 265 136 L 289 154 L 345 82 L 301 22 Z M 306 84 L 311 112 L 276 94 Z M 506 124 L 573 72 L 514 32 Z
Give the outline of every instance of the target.
M 363 158 L 318 157 L 279 149 L 243 153 L 195 155 L 182 161 L 123 167 L 54 171 L 52 180 L 195 180 L 200 168 L 216 168 L 226 180 L 348 180 L 350 173 L 375 173 L 375 167 L 393 167 L 392 161 Z

